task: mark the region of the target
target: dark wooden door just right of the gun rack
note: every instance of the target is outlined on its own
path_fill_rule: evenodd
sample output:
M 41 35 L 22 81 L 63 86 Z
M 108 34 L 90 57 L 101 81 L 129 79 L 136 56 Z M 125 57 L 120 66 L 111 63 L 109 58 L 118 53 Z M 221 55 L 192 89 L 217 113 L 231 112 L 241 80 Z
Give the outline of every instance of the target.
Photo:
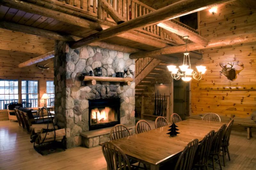
M 189 116 L 189 82 L 173 80 L 173 113 L 180 115 L 184 120 Z

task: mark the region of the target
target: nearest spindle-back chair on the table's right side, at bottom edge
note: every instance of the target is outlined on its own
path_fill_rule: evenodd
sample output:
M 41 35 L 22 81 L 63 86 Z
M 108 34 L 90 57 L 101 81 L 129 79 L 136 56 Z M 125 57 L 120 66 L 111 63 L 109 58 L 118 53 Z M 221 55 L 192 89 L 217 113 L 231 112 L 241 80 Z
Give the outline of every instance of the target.
M 193 159 L 196 154 L 197 146 L 198 146 L 198 139 L 193 139 L 188 143 L 185 149 L 181 152 L 174 170 L 178 170 L 178 169 L 190 170 L 192 168 Z

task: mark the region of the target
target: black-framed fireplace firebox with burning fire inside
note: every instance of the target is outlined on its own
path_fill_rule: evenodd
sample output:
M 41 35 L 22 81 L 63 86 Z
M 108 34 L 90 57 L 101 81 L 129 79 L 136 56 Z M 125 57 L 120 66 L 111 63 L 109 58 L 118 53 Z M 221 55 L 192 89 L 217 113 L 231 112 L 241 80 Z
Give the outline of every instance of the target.
M 119 98 L 89 100 L 89 130 L 107 128 L 119 123 Z

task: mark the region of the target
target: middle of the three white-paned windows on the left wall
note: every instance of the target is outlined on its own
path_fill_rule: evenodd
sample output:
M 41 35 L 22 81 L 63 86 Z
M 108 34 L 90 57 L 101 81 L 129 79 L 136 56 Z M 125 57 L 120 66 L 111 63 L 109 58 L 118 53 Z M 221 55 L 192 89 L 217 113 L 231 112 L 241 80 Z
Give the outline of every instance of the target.
M 38 81 L 21 81 L 21 101 L 23 107 L 38 107 Z

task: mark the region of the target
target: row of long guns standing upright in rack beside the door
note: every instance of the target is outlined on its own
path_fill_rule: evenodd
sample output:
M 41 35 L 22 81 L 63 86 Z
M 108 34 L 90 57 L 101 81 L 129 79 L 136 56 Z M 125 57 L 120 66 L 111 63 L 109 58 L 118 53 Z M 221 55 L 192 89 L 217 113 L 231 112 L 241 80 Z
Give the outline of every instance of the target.
M 164 110 L 165 110 L 165 93 L 164 93 L 164 96 L 162 96 L 162 98 L 161 98 L 161 94 L 159 96 L 158 95 L 158 90 L 157 90 L 157 97 L 156 97 L 156 93 L 155 93 L 154 115 L 164 116 Z

